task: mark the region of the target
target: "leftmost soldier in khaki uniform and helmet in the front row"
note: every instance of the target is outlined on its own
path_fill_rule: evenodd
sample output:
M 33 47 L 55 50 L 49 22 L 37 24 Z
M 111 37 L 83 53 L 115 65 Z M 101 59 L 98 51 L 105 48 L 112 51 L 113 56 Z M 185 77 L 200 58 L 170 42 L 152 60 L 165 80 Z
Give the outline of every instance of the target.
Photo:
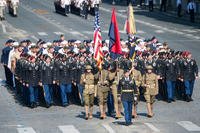
M 95 77 L 92 73 L 92 67 L 87 65 L 86 72 L 81 75 L 81 85 L 84 86 L 83 96 L 85 105 L 85 119 L 92 119 L 93 105 L 94 105 L 94 94 L 95 94 Z

